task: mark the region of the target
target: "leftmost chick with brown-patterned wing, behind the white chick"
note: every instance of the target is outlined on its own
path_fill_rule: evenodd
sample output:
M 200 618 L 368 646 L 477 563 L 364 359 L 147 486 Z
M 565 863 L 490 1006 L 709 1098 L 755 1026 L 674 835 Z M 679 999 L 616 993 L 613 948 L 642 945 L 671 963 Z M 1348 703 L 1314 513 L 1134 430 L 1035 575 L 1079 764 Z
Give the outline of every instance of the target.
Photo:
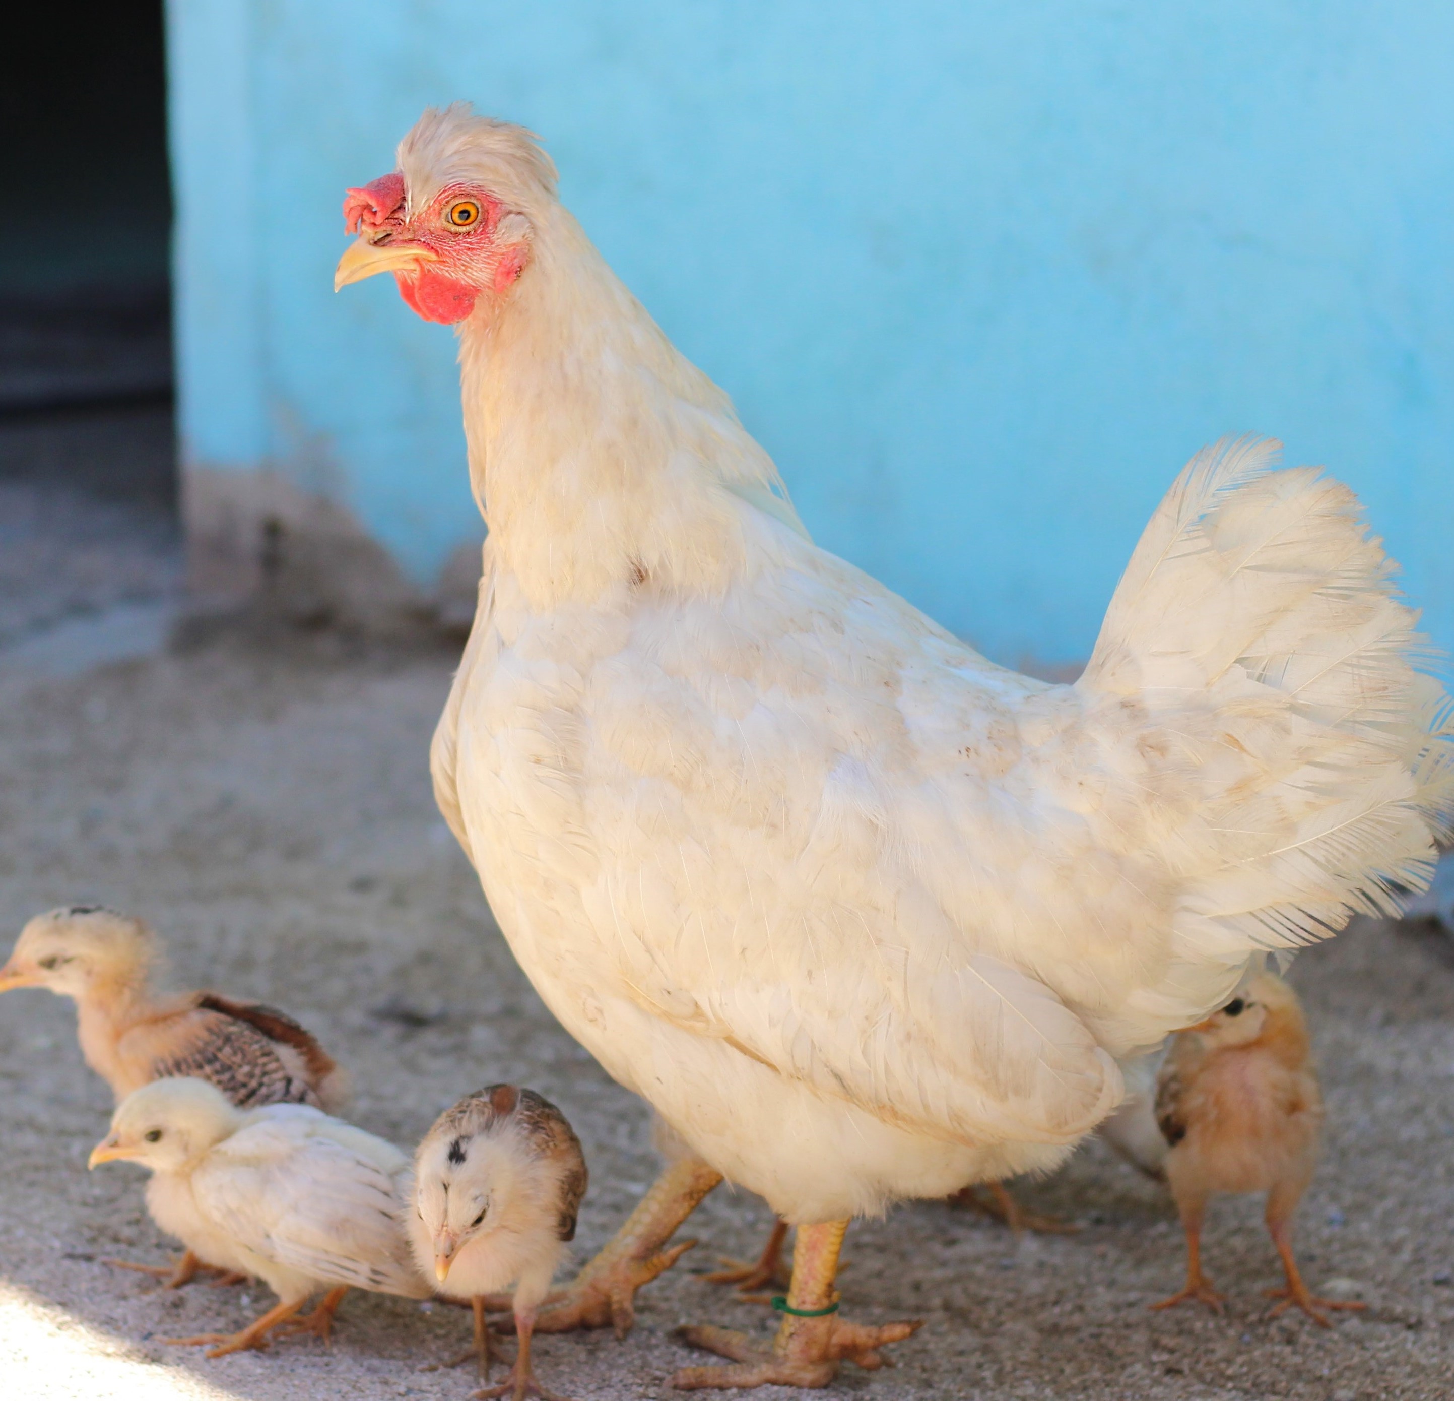
M 48 988 L 76 1002 L 86 1063 L 119 1104 L 167 1077 L 205 1079 L 238 1109 L 310 1104 L 329 1113 L 346 1100 L 343 1072 L 313 1034 L 259 1002 L 218 992 L 158 994 L 161 946 L 141 919 L 99 905 L 36 915 L 0 967 L 0 992 Z M 109 1260 L 121 1269 L 188 1283 L 204 1266 L 188 1251 L 174 1267 Z M 236 1279 L 224 1274 L 222 1282 Z

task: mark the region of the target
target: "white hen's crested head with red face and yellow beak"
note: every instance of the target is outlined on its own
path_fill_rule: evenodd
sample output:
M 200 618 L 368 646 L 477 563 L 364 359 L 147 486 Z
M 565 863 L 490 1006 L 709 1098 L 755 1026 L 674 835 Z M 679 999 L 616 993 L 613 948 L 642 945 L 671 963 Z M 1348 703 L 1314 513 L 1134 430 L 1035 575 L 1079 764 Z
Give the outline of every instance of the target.
M 554 201 L 555 166 L 523 127 L 464 102 L 430 108 L 400 141 L 398 169 L 348 192 L 343 220 L 359 237 L 333 288 L 393 272 L 426 322 L 462 322 L 525 275 Z

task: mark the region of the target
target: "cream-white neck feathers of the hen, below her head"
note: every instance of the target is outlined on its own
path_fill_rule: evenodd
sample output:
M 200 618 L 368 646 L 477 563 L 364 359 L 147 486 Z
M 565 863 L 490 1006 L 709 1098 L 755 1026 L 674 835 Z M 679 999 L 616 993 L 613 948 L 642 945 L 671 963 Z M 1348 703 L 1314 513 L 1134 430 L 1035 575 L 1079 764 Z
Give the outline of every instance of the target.
M 486 301 L 461 329 L 470 476 L 494 567 L 534 607 L 646 580 L 717 592 L 784 525 L 806 534 L 731 402 L 564 209 L 515 291 Z

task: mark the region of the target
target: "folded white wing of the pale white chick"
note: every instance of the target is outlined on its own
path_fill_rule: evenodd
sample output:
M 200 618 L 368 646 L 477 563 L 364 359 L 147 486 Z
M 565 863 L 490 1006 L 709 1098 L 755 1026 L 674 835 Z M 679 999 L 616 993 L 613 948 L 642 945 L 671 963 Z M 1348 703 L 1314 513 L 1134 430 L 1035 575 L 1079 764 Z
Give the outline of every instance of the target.
M 425 1298 L 400 1221 L 391 1143 L 317 1110 L 259 1110 L 192 1177 L 199 1209 L 265 1258 L 329 1285 Z

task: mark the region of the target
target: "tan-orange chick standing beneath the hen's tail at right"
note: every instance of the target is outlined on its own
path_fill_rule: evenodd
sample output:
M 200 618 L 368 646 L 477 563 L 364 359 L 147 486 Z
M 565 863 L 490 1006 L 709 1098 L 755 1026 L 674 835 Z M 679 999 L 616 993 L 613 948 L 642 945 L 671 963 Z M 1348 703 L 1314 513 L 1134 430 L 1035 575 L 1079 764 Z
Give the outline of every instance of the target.
M 1272 1317 L 1297 1306 L 1325 1328 L 1323 1309 L 1362 1308 L 1309 1293 L 1293 1258 L 1293 1212 L 1313 1177 L 1323 1098 L 1297 995 L 1272 973 L 1220 1013 L 1181 1031 L 1162 1065 L 1156 1119 L 1169 1145 L 1163 1170 L 1186 1231 L 1186 1285 L 1152 1308 L 1221 1296 L 1201 1270 L 1201 1219 L 1214 1192 L 1265 1192 L 1266 1225 L 1287 1288 Z

